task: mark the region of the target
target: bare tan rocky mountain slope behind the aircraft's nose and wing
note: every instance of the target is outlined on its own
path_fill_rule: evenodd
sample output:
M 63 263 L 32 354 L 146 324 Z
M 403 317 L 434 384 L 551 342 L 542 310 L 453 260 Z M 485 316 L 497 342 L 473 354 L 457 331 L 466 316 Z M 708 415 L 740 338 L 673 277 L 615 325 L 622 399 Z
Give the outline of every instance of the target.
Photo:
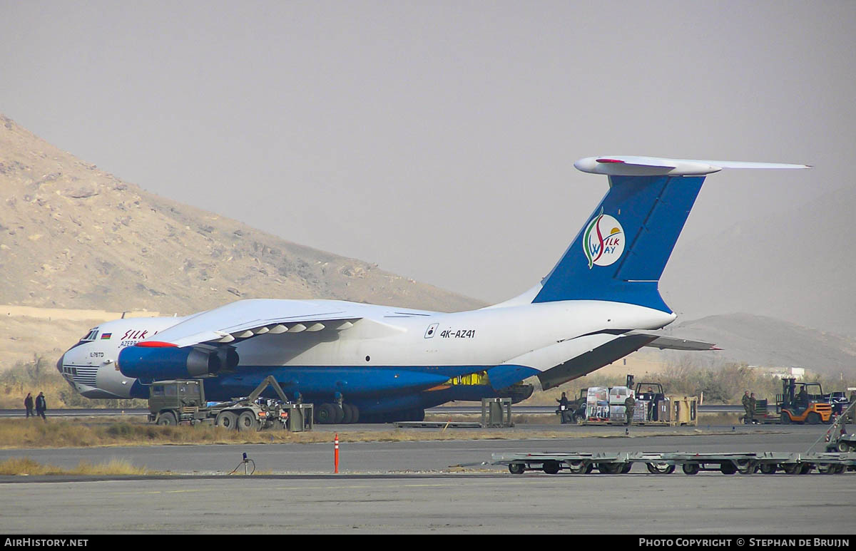
M 0 304 L 180 314 L 260 297 L 442 311 L 482 305 L 157 197 L 5 116 L 0 187 Z M 300 191 L 289 189 L 284 176 L 288 193 Z

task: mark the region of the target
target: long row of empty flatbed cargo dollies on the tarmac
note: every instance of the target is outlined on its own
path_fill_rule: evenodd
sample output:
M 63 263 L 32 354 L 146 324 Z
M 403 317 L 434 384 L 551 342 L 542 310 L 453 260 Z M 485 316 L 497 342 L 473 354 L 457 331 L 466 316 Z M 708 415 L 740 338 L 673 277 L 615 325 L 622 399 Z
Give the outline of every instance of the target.
M 557 474 L 589 474 L 595 469 L 603 474 L 626 474 L 633 463 L 645 463 L 652 474 L 671 474 L 680 466 L 687 475 L 700 471 L 720 471 L 722 474 L 755 472 L 775 474 L 808 474 L 814 469 L 823 474 L 856 471 L 856 453 L 683 453 L 683 452 L 620 452 L 620 453 L 494 453 L 494 465 L 508 465 L 515 475 L 526 471 Z

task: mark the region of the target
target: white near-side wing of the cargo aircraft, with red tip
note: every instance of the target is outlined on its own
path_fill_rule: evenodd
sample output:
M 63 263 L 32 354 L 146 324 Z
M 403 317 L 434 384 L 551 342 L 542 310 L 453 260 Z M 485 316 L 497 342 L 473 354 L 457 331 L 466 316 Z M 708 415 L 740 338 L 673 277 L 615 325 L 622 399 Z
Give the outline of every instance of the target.
M 191 347 L 270 333 L 350 329 L 362 316 L 348 303 L 247 299 L 200 312 L 140 341 L 141 347 Z

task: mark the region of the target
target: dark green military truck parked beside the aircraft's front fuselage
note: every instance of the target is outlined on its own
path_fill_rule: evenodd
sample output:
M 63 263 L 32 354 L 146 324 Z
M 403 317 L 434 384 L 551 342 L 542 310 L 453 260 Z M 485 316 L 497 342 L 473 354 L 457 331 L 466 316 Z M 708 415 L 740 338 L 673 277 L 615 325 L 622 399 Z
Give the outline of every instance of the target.
M 279 400 L 259 399 L 272 387 Z M 160 425 L 214 424 L 225 429 L 312 429 L 312 404 L 293 404 L 282 388 L 267 376 L 246 398 L 209 405 L 202 379 L 152 382 L 149 387 L 149 421 Z

